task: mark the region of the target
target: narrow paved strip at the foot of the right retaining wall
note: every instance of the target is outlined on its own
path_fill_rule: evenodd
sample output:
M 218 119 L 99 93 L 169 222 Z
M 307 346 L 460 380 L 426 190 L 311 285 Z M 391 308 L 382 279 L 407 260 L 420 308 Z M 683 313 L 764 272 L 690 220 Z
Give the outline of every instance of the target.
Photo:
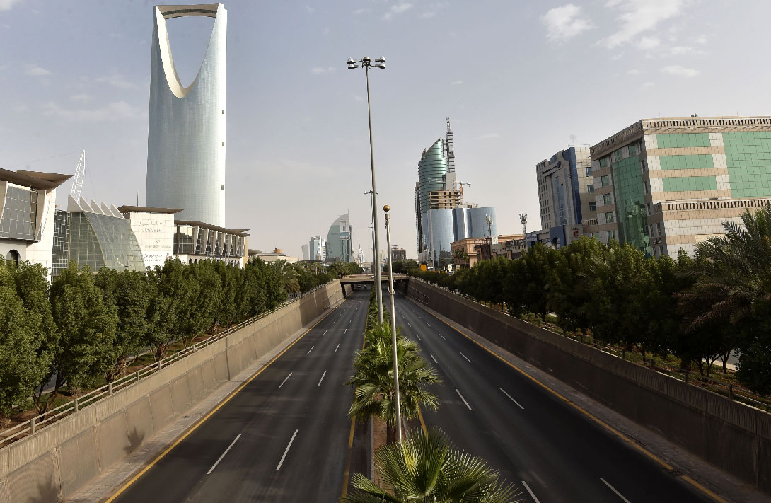
M 460 326 L 438 312 L 433 311 L 433 309 L 430 309 L 428 306 L 416 302 L 410 297 L 406 297 L 406 299 L 409 299 L 410 302 L 414 302 L 416 306 L 426 309 L 426 311 L 430 312 L 438 319 L 441 319 L 447 325 L 453 327 L 453 329 L 463 333 L 465 336 L 476 341 L 476 343 L 479 343 L 480 346 L 489 349 L 492 353 L 503 358 L 503 360 L 516 366 L 517 369 L 521 370 L 527 376 L 544 384 L 546 387 L 554 390 L 554 392 L 559 393 L 562 397 L 567 399 L 567 401 L 574 403 L 574 405 L 581 410 L 584 410 L 588 414 L 591 414 L 591 416 L 601 420 L 604 424 L 610 425 L 631 444 L 635 444 L 662 459 L 674 468 L 674 470 L 672 470 L 673 476 L 679 477 L 688 475 L 694 481 L 709 489 L 709 491 L 714 492 L 719 498 L 722 498 L 715 499 L 715 501 L 725 503 L 771 503 L 771 497 L 757 491 L 744 481 L 727 474 L 719 468 L 715 468 L 712 464 L 702 461 L 700 457 L 691 454 L 689 451 L 685 451 L 682 447 L 672 444 L 672 442 L 660 437 L 651 430 L 641 427 L 627 417 L 605 407 L 597 400 L 593 400 L 590 397 L 579 393 L 561 380 L 557 380 L 543 370 L 538 369 L 536 366 L 521 360 L 517 356 L 509 353 L 506 349 L 490 343 L 487 339 Z

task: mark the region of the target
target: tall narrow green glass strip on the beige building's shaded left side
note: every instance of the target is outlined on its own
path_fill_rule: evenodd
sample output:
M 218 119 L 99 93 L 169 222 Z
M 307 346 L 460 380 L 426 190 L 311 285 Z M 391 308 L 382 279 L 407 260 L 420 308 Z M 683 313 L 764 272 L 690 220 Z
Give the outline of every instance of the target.
M 709 139 L 709 138 L 708 138 Z M 619 241 L 629 243 L 650 254 L 648 237 L 648 210 L 645 205 L 645 190 L 642 184 L 639 154 L 623 157 L 624 148 L 611 155 L 614 200 L 616 201 L 616 222 Z M 627 152 L 629 151 L 626 149 Z M 635 146 L 634 152 L 639 152 Z

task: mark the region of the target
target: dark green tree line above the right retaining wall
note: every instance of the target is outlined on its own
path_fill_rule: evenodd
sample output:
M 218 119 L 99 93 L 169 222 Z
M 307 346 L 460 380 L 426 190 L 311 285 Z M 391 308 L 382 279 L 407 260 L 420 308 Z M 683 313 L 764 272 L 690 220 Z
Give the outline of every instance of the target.
M 581 238 L 559 250 L 540 243 L 521 258 L 493 258 L 453 275 L 409 274 L 511 316 L 554 313 L 562 329 L 645 355 L 674 354 L 709 376 L 718 359 L 739 359 L 736 377 L 771 392 L 771 204 L 724 223 L 726 234 L 672 259 L 631 245 Z M 396 264 L 395 264 L 396 265 Z

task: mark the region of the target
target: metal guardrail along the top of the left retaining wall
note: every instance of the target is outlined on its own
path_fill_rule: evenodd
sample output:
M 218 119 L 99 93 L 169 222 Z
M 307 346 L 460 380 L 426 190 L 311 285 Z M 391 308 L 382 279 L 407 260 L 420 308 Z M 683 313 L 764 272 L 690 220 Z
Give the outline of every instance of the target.
M 280 306 L 277 306 L 271 311 L 263 312 L 258 316 L 254 316 L 244 322 L 238 323 L 235 326 L 231 326 L 230 328 L 223 330 L 221 333 L 216 333 L 213 336 L 207 337 L 204 340 L 194 343 L 192 346 L 187 346 L 186 348 L 180 349 L 177 351 L 177 353 L 165 356 L 155 363 L 151 363 L 148 366 L 144 366 L 140 370 L 136 370 L 134 373 L 130 373 L 121 377 L 120 379 L 113 380 L 112 382 L 105 384 L 103 387 L 96 388 L 96 390 L 91 390 L 89 393 L 86 393 L 80 397 L 76 397 L 75 400 L 70 400 L 67 403 L 59 405 L 59 407 L 55 407 L 51 410 L 47 410 L 43 414 L 32 417 L 32 419 L 26 420 L 6 430 L 0 431 L 0 447 L 5 447 L 5 445 L 11 444 L 13 441 L 17 441 L 20 438 L 26 437 L 27 435 L 35 434 L 35 432 L 39 431 L 42 427 L 48 426 L 49 424 L 56 422 L 56 420 L 59 420 L 62 417 L 69 416 L 69 414 L 88 407 L 89 405 L 92 405 L 93 403 L 96 403 L 105 397 L 109 397 L 117 391 L 139 383 L 140 380 L 143 380 L 147 376 L 158 372 L 159 370 L 163 369 L 163 367 L 182 360 L 184 357 L 197 352 L 199 349 L 210 346 L 211 344 L 216 343 L 218 340 L 229 336 L 231 333 L 237 332 L 246 326 L 250 326 L 254 322 L 258 322 L 265 316 L 269 316 L 280 309 L 284 309 L 284 307 L 289 306 L 294 302 L 298 302 L 298 300 L 302 299 L 305 295 L 308 295 L 311 292 L 315 292 L 316 290 L 323 289 L 328 284 L 329 282 L 325 283 L 324 285 L 318 285 L 315 289 L 308 290 L 308 292 L 305 292 L 295 299 L 290 299 L 281 303 Z

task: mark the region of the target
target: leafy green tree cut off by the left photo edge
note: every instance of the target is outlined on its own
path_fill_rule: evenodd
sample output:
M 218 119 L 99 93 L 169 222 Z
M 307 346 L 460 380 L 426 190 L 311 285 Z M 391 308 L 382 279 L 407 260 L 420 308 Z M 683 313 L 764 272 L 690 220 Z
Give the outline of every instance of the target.
M 21 264 L 20 264 L 21 265 Z M 23 266 L 22 266 L 23 267 Z M 16 291 L 12 263 L 0 259 L 0 421 L 8 420 L 15 405 L 32 397 L 49 374 L 51 353 L 45 350 L 50 334 L 41 332 L 44 320 L 25 309 Z M 45 280 L 45 275 L 43 276 Z M 50 313 L 49 313 L 50 317 Z

